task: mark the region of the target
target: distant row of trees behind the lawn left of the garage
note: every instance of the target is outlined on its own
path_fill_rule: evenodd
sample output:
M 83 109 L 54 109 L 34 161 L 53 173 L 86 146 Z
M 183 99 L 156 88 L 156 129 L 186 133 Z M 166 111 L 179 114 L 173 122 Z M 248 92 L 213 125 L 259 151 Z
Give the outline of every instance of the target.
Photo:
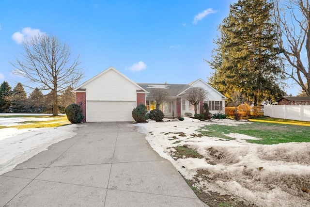
M 75 103 L 73 88 L 67 87 L 58 96 L 58 111 L 63 113 L 64 108 Z M 3 81 L 0 85 L 0 112 L 1 113 L 52 113 L 52 92 L 44 95 L 39 88 L 35 88 L 27 97 L 27 93 L 21 83 L 17 83 L 12 90 L 8 82 Z

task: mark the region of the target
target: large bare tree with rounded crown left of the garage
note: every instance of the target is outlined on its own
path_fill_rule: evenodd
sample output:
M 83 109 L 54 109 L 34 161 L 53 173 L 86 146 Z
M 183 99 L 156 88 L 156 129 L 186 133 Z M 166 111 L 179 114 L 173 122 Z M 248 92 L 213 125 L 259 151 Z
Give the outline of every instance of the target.
M 55 36 L 42 34 L 23 42 L 21 57 L 11 63 L 13 73 L 39 83 L 41 90 L 50 90 L 53 116 L 58 115 L 58 94 L 75 86 L 84 77 L 79 55 L 71 60 L 71 48 Z

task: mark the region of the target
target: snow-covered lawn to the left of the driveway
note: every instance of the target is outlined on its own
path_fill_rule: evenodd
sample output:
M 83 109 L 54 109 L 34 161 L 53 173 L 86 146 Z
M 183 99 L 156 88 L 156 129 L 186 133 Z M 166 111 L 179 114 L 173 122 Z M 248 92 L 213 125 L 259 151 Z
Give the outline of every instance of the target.
M 16 115 L 16 114 L 14 114 Z M 33 115 L 33 114 L 31 114 Z M 46 115 L 46 114 L 45 114 Z M 23 121 L 46 121 L 49 118 L 0 118 L 0 126 L 15 126 Z M 52 118 L 50 120 L 53 120 Z M 47 150 L 48 146 L 76 135 L 76 125 L 56 128 L 1 128 L 0 129 L 0 175 Z

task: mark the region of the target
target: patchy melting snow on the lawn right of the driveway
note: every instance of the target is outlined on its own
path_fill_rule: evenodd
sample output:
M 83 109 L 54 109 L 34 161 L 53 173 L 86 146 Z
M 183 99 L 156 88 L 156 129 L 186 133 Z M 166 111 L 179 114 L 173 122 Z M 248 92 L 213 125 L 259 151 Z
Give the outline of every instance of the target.
M 235 140 L 226 140 L 196 131 L 212 124 L 242 127 L 251 123 L 185 117 L 184 121 L 136 126 L 159 155 L 171 160 L 186 179 L 195 181 L 194 187 L 206 193 L 231 195 L 260 207 L 310 206 L 310 143 L 252 144 L 246 139 L 257 138 L 229 134 Z M 204 158 L 177 159 L 176 146 L 195 149 Z

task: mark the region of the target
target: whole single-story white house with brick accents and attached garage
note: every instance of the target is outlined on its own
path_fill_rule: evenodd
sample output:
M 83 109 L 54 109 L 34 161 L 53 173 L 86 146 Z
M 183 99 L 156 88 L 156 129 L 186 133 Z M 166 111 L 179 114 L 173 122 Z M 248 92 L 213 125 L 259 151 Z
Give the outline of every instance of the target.
M 113 67 L 82 83 L 72 92 L 76 94 L 76 103 L 81 106 L 84 121 L 116 122 L 134 121 L 131 112 L 139 104 L 146 105 L 149 111 L 155 109 L 156 104 L 152 98 L 154 88 L 168 92 L 167 98 L 160 105 L 165 116 L 179 117 L 186 112 L 194 114 L 194 106 L 182 97 L 190 87 L 202 87 L 208 92 L 199 104 L 200 113 L 204 102 L 209 104 L 211 113 L 225 112 L 227 98 L 202 79 L 189 84 L 135 83 Z

